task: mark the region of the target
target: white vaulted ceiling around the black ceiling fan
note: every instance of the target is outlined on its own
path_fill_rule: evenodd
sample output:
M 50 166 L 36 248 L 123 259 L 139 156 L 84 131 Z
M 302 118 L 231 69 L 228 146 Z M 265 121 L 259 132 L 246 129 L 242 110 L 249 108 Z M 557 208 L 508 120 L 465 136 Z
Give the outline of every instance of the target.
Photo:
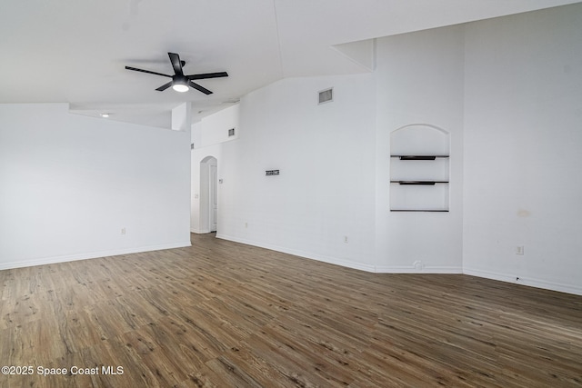
M 185 101 L 196 120 L 284 77 L 369 71 L 345 55 L 366 45 L 334 45 L 578 2 L 2 0 L 0 103 L 70 103 L 78 114 L 169 127 Z M 157 92 L 167 78 L 125 70 L 172 74 L 168 52 L 186 74 L 230 76 L 199 81 L 215 92 L 206 96 Z

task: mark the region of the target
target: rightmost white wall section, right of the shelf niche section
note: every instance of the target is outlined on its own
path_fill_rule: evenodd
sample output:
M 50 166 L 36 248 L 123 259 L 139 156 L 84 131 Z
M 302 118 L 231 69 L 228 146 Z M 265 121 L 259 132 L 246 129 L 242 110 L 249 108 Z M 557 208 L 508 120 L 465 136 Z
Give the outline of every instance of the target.
M 581 26 L 577 4 L 467 29 L 467 274 L 582 293 Z

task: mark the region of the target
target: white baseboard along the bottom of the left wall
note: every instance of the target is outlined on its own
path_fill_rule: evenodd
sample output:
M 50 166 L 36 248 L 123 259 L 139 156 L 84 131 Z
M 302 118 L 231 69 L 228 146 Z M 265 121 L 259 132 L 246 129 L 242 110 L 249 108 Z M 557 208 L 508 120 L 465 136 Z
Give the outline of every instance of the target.
M 100 251 L 86 254 L 65 254 L 62 256 L 43 257 L 33 260 L 25 260 L 22 262 L 0 263 L 0 270 L 7 270 L 11 268 L 32 267 L 35 265 L 56 264 L 65 262 L 74 262 L 76 260 L 95 259 L 97 257 L 117 256 L 119 254 L 139 254 L 141 252 L 161 251 L 163 249 L 184 248 L 192 246 L 190 242 L 172 243 L 172 244 L 158 244 L 138 246 L 134 248 L 114 249 L 111 251 Z

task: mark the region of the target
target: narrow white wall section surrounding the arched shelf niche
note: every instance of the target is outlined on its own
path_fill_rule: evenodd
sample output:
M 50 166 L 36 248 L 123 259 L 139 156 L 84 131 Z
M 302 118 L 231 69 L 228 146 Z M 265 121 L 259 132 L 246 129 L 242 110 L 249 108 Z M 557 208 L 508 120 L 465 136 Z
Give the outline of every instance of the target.
M 463 32 L 459 25 L 376 41 L 379 272 L 462 272 Z M 434 125 L 448 133 L 448 213 L 389 211 L 390 134 L 409 124 Z

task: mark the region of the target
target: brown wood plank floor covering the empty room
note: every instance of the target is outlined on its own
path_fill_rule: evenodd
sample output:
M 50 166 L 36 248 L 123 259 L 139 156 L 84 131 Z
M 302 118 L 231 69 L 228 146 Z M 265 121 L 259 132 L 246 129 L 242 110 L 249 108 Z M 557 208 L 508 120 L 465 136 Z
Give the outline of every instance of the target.
M 582 386 L 581 296 L 192 239 L 0 271 L 0 386 Z

